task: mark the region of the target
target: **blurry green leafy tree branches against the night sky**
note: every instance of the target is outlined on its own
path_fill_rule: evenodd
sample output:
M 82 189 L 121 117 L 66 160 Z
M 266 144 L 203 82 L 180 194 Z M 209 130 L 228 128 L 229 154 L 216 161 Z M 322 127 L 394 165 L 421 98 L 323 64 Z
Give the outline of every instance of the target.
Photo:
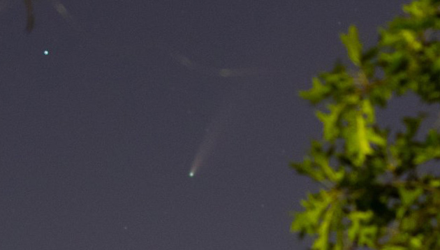
M 426 116 L 404 117 L 404 131 L 382 128 L 376 108 L 416 94 L 440 103 L 440 1 L 403 6 L 363 50 L 358 30 L 342 34 L 353 69 L 336 64 L 300 96 L 318 105 L 323 136 L 311 142 L 300 174 L 323 185 L 302 200 L 291 226 L 314 238 L 311 249 L 440 249 L 440 178 L 418 171 L 440 159 L 440 134 L 421 131 Z

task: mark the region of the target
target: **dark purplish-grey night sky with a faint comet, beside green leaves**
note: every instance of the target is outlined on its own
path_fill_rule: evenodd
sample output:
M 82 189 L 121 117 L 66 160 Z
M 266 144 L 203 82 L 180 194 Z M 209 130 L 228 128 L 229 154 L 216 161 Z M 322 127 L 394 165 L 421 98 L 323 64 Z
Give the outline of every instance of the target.
M 306 249 L 298 90 L 404 2 L 2 0 L 0 249 Z

